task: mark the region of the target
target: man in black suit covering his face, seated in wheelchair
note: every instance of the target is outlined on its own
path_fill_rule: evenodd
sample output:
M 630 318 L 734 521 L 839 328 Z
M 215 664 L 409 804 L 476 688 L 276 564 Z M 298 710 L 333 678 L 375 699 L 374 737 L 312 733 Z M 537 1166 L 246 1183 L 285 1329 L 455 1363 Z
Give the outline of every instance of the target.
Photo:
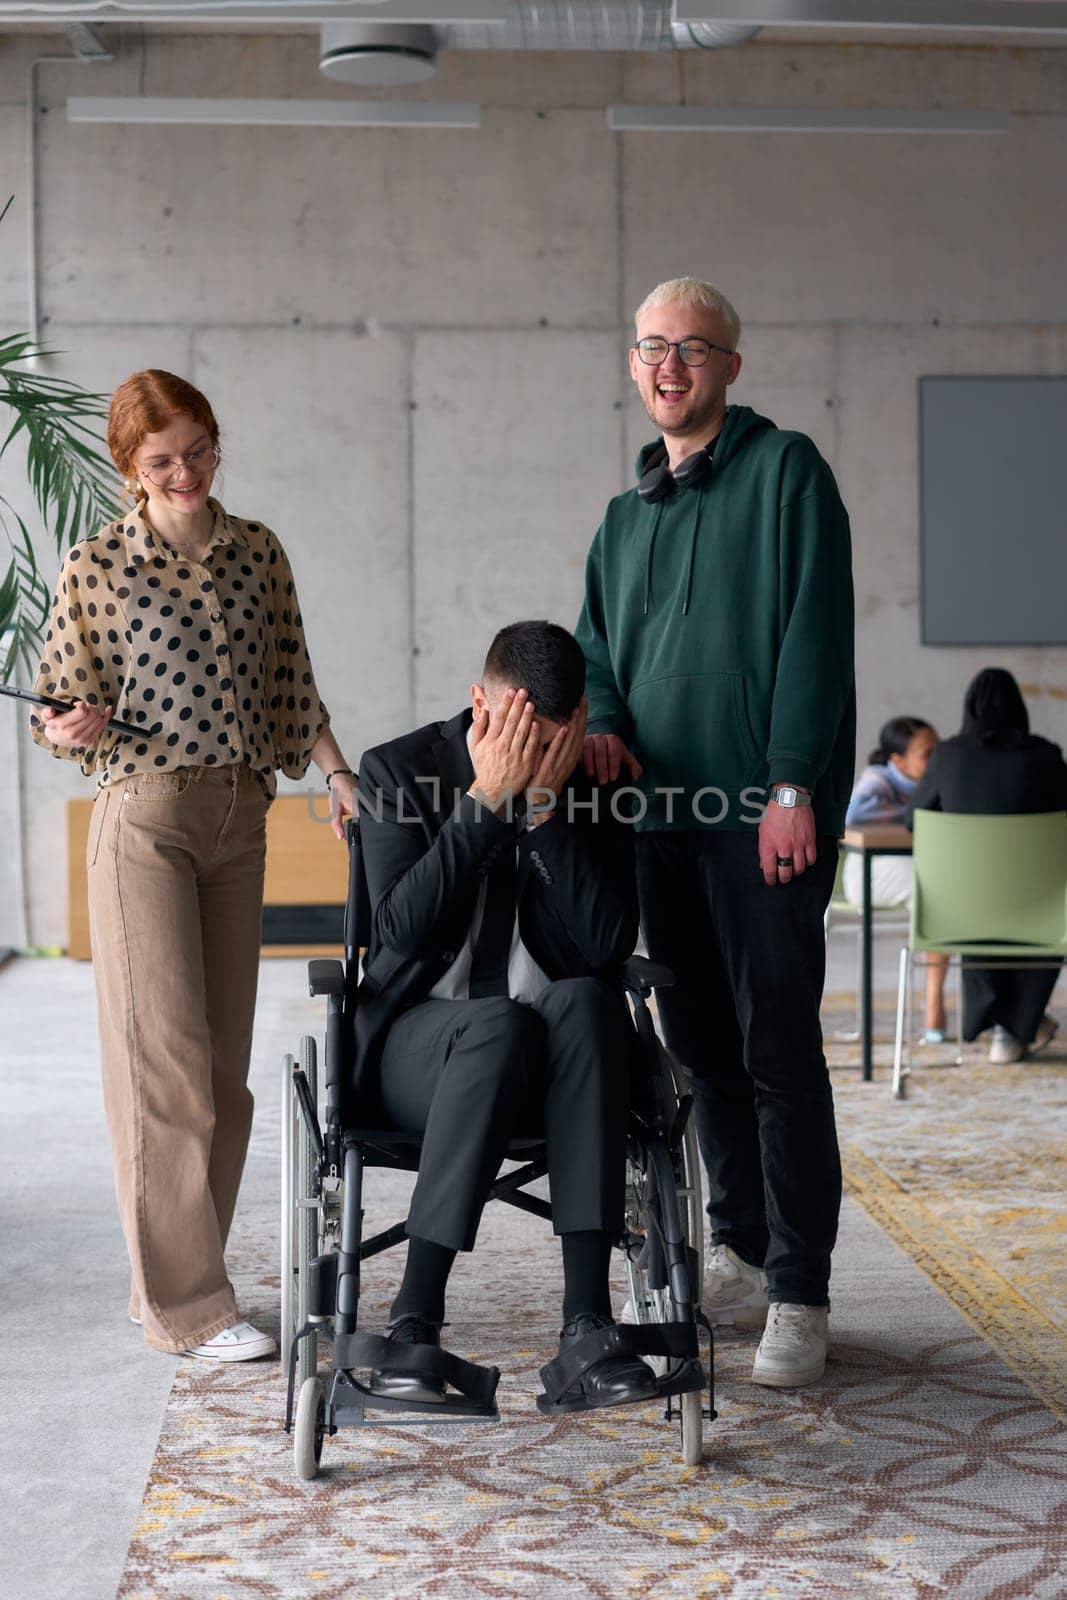
M 355 1013 L 362 1091 L 370 1067 L 389 1123 L 422 1134 L 386 1328 L 398 1350 L 440 1346 L 456 1251 L 474 1250 L 509 1141 L 523 1136 L 547 1146 L 560 1357 L 613 1325 L 633 1030 L 606 974 L 630 955 L 638 914 L 632 830 L 579 765 L 584 686 L 565 629 L 514 622 L 493 640 L 470 709 L 368 750 L 360 766 L 371 904 Z M 445 1397 L 414 1350 L 395 1368 L 382 1360 L 371 1389 Z M 614 1350 L 560 1410 L 654 1394 L 653 1370 Z

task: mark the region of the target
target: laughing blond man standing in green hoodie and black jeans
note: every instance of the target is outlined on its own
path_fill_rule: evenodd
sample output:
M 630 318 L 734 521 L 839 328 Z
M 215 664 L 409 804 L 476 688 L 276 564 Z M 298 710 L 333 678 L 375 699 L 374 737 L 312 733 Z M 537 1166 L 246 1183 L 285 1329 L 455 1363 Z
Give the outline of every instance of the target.
M 657 995 L 709 1178 L 704 1309 L 761 1326 L 753 1379 L 822 1376 L 841 1168 L 822 917 L 853 782 L 848 515 L 809 438 L 728 406 L 741 325 L 675 278 L 630 376 L 659 438 L 593 539 L 585 771 L 629 770 Z

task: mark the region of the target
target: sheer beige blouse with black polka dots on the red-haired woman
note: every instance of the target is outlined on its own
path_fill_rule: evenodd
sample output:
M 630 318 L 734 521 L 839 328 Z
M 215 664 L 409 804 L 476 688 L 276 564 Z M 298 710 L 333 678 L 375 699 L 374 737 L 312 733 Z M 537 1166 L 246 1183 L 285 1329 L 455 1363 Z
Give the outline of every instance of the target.
M 285 550 L 259 522 L 216 501 L 202 562 L 157 538 L 139 507 L 72 546 L 62 563 L 40 694 L 112 706 L 144 738 L 104 730 L 91 747 L 34 738 L 101 784 L 133 773 L 245 762 L 274 792 L 274 773 L 307 771 L 330 722 L 304 643 Z

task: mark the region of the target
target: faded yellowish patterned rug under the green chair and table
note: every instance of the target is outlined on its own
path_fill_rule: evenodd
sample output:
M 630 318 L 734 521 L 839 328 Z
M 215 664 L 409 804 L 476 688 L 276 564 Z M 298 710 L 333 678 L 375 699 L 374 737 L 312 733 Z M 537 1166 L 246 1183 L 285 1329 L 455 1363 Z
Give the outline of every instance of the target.
M 907 1099 L 891 1098 L 835 1034 L 854 1000 L 829 997 L 827 1056 L 851 1192 L 1030 1387 L 1067 1421 L 1067 1024 L 1030 1062 L 989 1064 L 989 1038 L 915 1046 Z M 893 1029 L 880 1006 L 875 1026 Z M 851 1070 L 848 1070 L 851 1069 Z

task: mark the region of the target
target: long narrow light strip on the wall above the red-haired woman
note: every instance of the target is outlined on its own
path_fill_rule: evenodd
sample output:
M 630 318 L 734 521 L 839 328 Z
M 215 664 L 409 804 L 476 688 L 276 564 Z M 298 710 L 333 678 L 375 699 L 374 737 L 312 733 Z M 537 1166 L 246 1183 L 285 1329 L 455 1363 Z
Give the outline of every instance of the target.
M 480 128 L 467 101 L 267 101 L 72 96 L 67 122 L 210 123 L 235 128 Z

